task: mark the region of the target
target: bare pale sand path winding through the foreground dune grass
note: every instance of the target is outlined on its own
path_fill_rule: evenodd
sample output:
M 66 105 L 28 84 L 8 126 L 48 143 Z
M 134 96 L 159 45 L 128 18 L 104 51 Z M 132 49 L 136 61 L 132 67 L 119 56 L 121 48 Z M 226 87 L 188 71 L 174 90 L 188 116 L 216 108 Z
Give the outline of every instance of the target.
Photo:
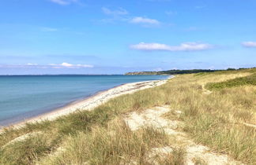
M 186 164 L 195 164 L 196 159 L 203 160 L 206 164 L 221 165 L 221 164 L 243 164 L 235 161 L 230 156 L 217 154 L 211 152 L 210 149 L 204 145 L 198 145 L 189 136 L 178 129 L 182 126 L 182 122 L 177 120 L 169 120 L 163 117 L 167 112 L 170 112 L 171 108 L 168 106 L 149 108 L 144 112 L 131 112 L 125 116 L 126 124 L 130 127 L 130 130 L 138 130 L 141 127 L 155 127 L 156 129 L 164 130 L 165 134 L 173 136 L 175 143 L 172 146 L 164 146 L 163 148 L 152 148 L 152 152 L 149 153 L 150 157 L 159 155 L 167 156 L 168 153 L 173 151 L 175 147 L 185 147 L 186 150 Z M 178 116 L 181 112 L 174 111 Z M 151 162 L 155 164 L 154 162 Z

